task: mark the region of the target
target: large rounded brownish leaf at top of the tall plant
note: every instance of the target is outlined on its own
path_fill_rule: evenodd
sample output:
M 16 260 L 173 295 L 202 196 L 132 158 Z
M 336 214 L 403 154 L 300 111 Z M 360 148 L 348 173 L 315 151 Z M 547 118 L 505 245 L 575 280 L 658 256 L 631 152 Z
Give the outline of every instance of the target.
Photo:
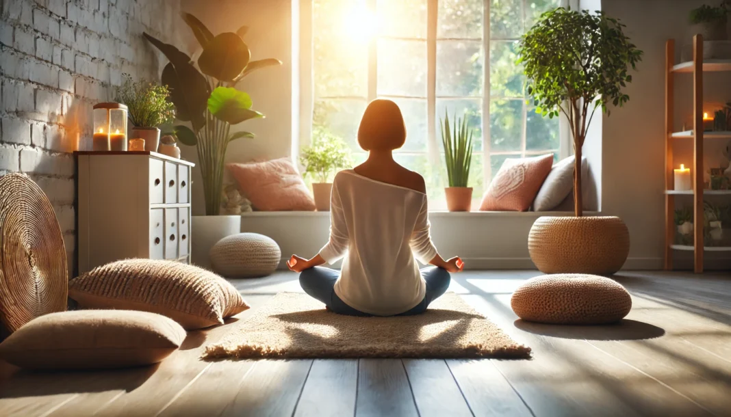
M 198 58 L 203 74 L 221 81 L 233 81 L 246 65 L 251 52 L 241 37 L 233 32 L 219 34 L 208 42 Z

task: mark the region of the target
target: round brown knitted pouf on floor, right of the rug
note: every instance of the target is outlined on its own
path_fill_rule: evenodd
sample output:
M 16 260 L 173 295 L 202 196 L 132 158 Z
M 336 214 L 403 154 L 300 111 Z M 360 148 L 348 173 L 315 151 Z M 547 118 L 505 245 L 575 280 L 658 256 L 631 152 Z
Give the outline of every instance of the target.
M 515 290 L 510 307 L 526 321 L 546 324 L 610 324 L 632 308 L 614 280 L 585 274 L 542 275 Z

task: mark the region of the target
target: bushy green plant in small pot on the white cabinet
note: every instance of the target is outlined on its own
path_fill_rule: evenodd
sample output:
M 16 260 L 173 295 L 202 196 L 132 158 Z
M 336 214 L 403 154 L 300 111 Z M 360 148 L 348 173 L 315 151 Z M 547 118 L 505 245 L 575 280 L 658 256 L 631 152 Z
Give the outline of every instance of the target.
M 129 121 L 135 126 L 129 138 L 145 139 L 145 150 L 157 152 L 159 126 L 175 118 L 175 106 L 169 100 L 167 85 L 147 80 L 132 81 L 129 74 L 124 74 L 124 83 L 117 88 L 116 95 L 117 102 L 126 104 Z

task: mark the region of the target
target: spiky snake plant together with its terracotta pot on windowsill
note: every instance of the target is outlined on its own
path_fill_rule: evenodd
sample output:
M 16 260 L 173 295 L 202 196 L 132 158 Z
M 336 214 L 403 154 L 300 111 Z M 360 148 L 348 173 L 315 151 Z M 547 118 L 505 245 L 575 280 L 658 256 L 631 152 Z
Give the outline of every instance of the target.
M 447 210 L 469 211 L 472 205 L 472 188 L 467 186 L 469 169 L 472 162 L 472 134 L 467 118 L 455 115 L 450 129 L 450 117 L 444 111 L 444 119 L 439 120 L 444 144 L 444 162 L 447 164 L 449 187 L 444 188 L 447 196 Z

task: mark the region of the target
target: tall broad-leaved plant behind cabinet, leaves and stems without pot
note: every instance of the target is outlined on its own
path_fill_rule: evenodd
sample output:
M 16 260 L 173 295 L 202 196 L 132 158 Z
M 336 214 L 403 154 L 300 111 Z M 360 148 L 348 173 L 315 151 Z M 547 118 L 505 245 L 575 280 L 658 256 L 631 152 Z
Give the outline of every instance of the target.
M 150 34 L 144 35 L 170 61 L 162 70 L 162 83 L 170 89 L 170 100 L 175 104 L 178 120 L 189 122 L 191 126 L 175 126 L 175 136 L 183 145 L 197 147 L 205 213 L 218 215 L 227 147 L 235 139 L 254 137 L 247 131 L 231 133 L 231 125 L 264 117 L 251 109 L 251 97 L 237 86 L 251 72 L 280 65 L 281 61 L 274 58 L 251 61 L 251 51 L 243 42 L 248 31 L 246 26 L 235 33 L 214 36 L 193 15 L 183 13 L 183 20 L 203 48 L 195 63 L 197 68 L 177 47 Z

